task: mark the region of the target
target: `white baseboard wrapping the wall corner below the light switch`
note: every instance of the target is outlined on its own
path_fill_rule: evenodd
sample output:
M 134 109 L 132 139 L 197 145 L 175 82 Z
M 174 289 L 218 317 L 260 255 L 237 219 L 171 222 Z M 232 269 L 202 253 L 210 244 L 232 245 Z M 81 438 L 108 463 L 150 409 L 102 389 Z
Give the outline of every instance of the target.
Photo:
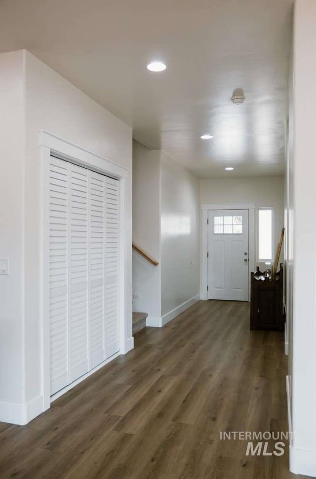
M 0 402 L 0 421 L 24 426 L 43 412 L 43 398 L 38 396 L 29 403 Z

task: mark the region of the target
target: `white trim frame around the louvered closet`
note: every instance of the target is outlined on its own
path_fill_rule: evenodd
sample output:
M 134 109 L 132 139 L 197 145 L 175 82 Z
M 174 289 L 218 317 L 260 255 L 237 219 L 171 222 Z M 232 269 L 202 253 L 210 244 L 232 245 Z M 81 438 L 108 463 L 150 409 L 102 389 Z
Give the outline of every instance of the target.
M 45 188 L 48 178 L 48 168 L 51 153 L 60 159 L 75 163 L 79 166 L 87 167 L 103 175 L 116 178 L 119 181 L 120 191 L 120 238 L 119 238 L 119 347 L 118 354 L 125 354 L 133 349 L 133 336 L 128 336 L 128 322 L 132 321 L 132 288 L 131 288 L 131 222 L 130 222 L 130 202 L 126 194 L 127 188 L 131 188 L 131 172 L 114 163 L 111 160 L 103 158 L 91 151 L 73 145 L 72 143 L 57 137 L 46 131 L 39 132 L 40 146 L 40 334 L 41 334 L 41 389 L 43 398 L 43 411 L 50 407 L 50 358 L 49 358 L 49 315 L 48 315 L 48 285 L 47 278 L 47 242 L 48 242 L 48 191 Z M 131 325 L 130 325 L 131 326 Z M 112 358 L 116 357 L 114 355 Z M 107 363 L 108 360 L 104 362 Z M 98 367 L 97 367 L 98 368 Z M 96 370 L 95 368 L 94 370 Z M 93 371 L 94 372 L 94 371 Z M 89 375 L 89 374 L 87 374 Z M 84 375 L 82 379 L 85 377 Z M 81 378 L 79 378 L 81 379 Z M 78 381 L 72 383 L 70 387 L 76 385 Z M 69 386 L 68 386 L 69 389 Z

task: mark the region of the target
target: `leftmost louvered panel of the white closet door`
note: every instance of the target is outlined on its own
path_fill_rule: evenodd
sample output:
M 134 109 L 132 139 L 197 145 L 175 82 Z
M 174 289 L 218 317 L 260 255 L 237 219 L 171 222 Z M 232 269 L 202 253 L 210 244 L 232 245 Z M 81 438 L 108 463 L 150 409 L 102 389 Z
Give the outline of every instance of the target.
M 49 167 L 49 323 L 52 394 L 68 384 L 68 164 Z

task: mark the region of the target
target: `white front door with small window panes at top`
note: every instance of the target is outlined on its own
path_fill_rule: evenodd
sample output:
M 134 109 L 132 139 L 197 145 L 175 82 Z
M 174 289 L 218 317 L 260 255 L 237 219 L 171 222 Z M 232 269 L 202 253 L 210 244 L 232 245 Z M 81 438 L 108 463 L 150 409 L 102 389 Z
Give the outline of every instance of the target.
M 248 210 L 208 211 L 208 299 L 248 301 Z

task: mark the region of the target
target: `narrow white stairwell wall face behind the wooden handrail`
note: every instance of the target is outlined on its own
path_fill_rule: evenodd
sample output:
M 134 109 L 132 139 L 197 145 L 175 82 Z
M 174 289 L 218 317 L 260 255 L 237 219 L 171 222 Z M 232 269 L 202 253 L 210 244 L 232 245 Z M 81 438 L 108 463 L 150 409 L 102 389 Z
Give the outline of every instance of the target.
M 160 298 L 160 150 L 133 141 L 133 242 L 159 261 L 154 266 L 133 251 L 133 311 L 148 314 L 159 326 Z

